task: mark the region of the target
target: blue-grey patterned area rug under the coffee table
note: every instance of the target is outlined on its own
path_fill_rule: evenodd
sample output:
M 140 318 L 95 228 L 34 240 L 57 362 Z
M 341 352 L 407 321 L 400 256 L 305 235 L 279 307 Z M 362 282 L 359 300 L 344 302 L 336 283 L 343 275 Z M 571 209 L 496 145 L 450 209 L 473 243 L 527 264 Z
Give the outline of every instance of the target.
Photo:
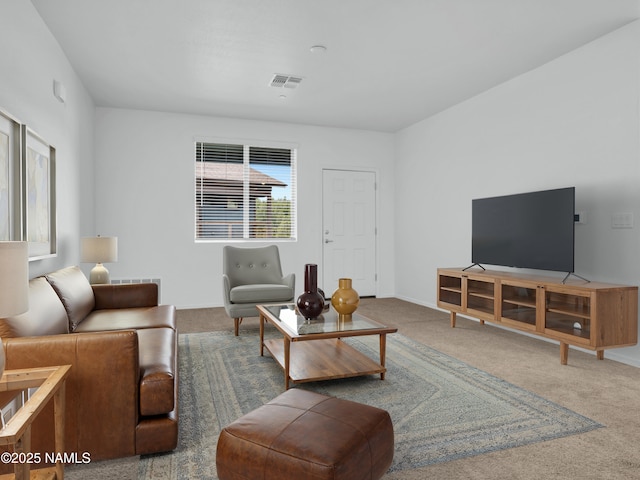
M 275 332 L 270 332 L 275 335 Z M 346 339 L 378 358 L 378 337 Z M 387 410 L 395 431 L 391 471 L 479 455 L 602 425 L 455 358 L 387 336 L 387 375 L 298 384 Z M 220 429 L 283 392 L 283 371 L 258 332 L 180 335 L 180 440 L 138 463 L 141 480 L 215 479 Z

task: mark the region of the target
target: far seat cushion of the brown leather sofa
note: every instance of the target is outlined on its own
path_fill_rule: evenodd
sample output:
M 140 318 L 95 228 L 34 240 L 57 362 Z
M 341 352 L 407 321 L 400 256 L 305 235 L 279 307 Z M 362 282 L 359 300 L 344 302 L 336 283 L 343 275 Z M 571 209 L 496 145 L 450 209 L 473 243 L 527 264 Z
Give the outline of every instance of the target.
M 107 330 L 140 330 L 157 327 L 175 330 L 175 310 L 176 308 L 173 305 L 94 310 L 76 327 L 75 331 L 104 332 Z

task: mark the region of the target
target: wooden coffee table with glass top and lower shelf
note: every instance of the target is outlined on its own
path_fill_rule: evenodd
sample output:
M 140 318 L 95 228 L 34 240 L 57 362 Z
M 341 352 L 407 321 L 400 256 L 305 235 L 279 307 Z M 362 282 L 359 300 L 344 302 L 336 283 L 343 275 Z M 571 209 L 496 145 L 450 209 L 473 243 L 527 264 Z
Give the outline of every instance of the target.
M 358 313 L 340 317 L 333 308 L 318 318 L 305 320 L 293 303 L 258 305 L 260 312 L 260 355 L 266 348 L 284 369 L 284 387 L 290 383 L 316 382 L 336 378 L 380 374 L 384 380 L 387 327 Z M 267 321 L 282 339 L 264 339 Z M 380 336 L 380 363 L 341 340 L 362 335 Z

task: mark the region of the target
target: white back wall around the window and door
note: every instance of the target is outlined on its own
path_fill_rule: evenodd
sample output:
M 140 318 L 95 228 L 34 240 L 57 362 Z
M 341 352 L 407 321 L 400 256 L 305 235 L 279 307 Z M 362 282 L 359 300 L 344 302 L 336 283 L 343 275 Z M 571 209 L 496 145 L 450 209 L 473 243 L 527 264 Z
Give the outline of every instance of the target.
M 195 115 L 98 108 L 96 233 L 118 236 L 112 278 L 159 277 L 162 301 L 222 305 L 223 243 L 194 242 L 194 138 L 298 145 L 298 241 L 279 243 L 301 291 L 305 263 L 322 266 L 322 168 L 374 171 L 378 296 L 394 292 L 393 135 Z M 337 287 L 337 286 L 336 286 Z M 327 292 L 330 293 L 330 292 Z

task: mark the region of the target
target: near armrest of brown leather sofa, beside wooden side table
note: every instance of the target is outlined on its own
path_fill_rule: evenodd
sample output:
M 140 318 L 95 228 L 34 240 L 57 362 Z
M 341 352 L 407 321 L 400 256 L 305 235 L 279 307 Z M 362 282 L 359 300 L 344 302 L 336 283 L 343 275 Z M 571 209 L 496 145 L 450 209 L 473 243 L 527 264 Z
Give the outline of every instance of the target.
M 133 330 L 3 340 L 6 369 L 71 365 L 66 381 L 65 450 L 91 460 L 135 455 L 140 379 Z M 49 406 L 48 408 L 51 408 Z M 53 415 L 32 427 L 33 451 L 54 451 Z

